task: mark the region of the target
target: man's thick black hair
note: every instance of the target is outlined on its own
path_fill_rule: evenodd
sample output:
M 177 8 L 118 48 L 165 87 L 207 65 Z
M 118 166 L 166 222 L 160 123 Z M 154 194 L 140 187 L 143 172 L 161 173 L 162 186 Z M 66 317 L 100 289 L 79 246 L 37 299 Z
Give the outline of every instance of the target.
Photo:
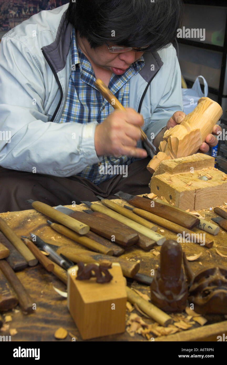
M 155 51 L 172 43 L 181 26 L 182 0 L 73 1 L 68 21 L 92 48 L 107 43 Z

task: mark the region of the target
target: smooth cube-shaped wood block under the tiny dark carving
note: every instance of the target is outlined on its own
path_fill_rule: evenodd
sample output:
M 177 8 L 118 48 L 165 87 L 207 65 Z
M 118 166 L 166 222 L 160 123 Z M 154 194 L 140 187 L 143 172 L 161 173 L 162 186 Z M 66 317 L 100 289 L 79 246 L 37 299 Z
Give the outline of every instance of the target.
M 123 333 L 127 293 L 120 265 L 112 264 L 113 279 L 105 284 L 76 280 L 77 270 L 77 265 L 68 270 L 68 309 L 82 339 Z

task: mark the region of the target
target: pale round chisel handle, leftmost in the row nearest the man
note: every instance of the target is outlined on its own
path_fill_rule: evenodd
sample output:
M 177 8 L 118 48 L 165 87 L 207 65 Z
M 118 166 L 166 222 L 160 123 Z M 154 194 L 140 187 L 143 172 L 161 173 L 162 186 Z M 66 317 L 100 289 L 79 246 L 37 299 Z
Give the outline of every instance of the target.
M 41 203 L 41 201 L 33 201 L 31 205 L 35 210 L 38 210 L 38 212 L 47 215 L 79 234 L 86 234 L 90 229 L 86 224 L 73 219 L 65 213 L 59 212 L 58 210 L 50 207 L 48 204 Z

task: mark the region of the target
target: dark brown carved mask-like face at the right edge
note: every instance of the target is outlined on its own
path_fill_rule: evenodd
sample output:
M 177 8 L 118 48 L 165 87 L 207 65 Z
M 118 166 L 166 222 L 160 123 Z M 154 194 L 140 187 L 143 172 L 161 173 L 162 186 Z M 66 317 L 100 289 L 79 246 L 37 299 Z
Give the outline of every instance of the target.
M 201 269 L 196 275 L 184 253 L 185 273 L 189 283 L 189 303 L 200 314 L 227 314 L 227 268 Z

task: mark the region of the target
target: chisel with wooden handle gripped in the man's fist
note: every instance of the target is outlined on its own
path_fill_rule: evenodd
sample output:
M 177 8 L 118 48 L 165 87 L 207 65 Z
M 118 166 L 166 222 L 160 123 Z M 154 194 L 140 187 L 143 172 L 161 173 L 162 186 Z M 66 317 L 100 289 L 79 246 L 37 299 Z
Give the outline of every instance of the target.
M 108 87 L 104 84 L 100 78 L 97 78 L 95 85 L 97 89 L 100 91 L 101 95 L 108 101 L 108 103 L 116 110 L 125 110 L 123 105 L 120 101 L 113 95 L 113 93 L 108 89 Z M 113 102 L 114 101 L 114 102 Z M 150 153 L 151 156 L 156 154 L 156 147 L 149 141 L 145 132 L 138 126 L 141 132 L 141 139 L 146 146 L 147 151 Z

